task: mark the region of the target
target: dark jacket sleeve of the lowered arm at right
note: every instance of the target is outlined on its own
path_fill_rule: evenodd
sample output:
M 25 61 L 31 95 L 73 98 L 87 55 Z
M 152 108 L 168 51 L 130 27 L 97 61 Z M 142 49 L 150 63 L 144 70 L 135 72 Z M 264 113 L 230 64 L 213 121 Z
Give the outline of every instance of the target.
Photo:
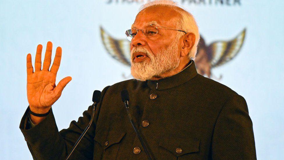
M 246 100 L 235 95 L 227 100 L 214 126 L 212 159 L 256 159 L 253 124 Z

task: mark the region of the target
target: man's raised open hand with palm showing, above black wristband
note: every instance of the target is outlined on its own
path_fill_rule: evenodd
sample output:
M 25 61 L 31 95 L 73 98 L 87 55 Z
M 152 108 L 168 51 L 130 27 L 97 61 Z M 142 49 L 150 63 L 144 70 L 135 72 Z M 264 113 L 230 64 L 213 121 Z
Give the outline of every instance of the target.
M 63 78 L 58 85 L 55 85 L 56 74 L 61 61 L 61 47 L 56 48 L 55 58 L 51 64 L 52 43 L 47 42 L 45 59 L 41 70 L 42 45 L 36 49 L 35 71 L 31 62 L 31 54 L 27 55 L 27 97 L 31 111 L 43 114 L 49 111 L 61 96 L 63 88 L 72 80 L 71 77 Z

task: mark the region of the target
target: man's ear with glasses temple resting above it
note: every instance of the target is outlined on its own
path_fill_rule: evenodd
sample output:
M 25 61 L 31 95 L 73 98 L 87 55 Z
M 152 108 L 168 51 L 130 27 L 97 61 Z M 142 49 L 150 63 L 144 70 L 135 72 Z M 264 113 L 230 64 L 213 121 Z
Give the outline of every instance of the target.
M 195 34 L 190 32 L 184 35 L 183 44 L 181 48 L 181 56 L 187 56 L 189 51 L 193 48 L 195 43 Z

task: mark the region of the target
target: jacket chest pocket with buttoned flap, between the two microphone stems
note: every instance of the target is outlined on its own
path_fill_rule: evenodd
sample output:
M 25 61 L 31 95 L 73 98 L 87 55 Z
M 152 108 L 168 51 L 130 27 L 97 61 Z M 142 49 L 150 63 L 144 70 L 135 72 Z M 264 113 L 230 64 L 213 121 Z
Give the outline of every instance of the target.
M 95 134 L 94 159 L 116 159 L 119 143 L 125 136 L 125 132 L 99 131 Z

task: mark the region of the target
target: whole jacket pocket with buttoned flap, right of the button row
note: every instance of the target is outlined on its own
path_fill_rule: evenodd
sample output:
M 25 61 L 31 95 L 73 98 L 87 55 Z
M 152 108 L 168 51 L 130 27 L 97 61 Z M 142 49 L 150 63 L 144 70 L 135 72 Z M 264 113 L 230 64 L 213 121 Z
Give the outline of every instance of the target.
M 161 136 L 159 146 L 161 157 L 173 157 L 172 159 L 191 159 L 196 156 L 191 156 L 199 152 L 200 140 L 188 137 L 179 136 Z M 174 155 L 174 156 L 173 156 Z M 166 158 L 165 157 L 165 158 Z

